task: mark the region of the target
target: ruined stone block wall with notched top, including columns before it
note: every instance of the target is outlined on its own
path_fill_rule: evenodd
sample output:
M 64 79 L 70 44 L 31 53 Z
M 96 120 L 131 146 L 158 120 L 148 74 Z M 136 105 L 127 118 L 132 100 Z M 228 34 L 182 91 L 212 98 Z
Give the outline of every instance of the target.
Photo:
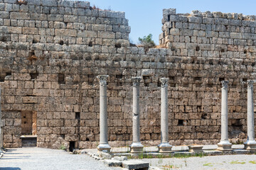
M 256 16 L 169 8 L 162 23 L 161 48 L 144 49 L 124 12 L 0 0 L 0 143 L 227 149 L 248 131 L 255 147 Z

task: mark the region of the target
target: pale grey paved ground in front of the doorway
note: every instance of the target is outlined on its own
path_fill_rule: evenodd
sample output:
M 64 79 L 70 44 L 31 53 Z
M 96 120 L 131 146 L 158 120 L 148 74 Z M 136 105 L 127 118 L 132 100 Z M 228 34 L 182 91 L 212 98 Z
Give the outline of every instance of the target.
M 58 149 L 23 147 L 8 149 L 0 159 L 1 170 L 14 169 L 120 169 L 107 167 L 103 162 L 92 159 L 85 154 L 70 154 Z

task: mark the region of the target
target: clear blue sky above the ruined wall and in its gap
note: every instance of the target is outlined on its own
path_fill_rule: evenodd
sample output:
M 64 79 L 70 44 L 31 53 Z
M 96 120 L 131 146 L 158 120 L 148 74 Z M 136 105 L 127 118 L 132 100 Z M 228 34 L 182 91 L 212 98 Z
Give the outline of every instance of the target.
M 112 11 L 124 11 L 131 26 L 129 38 L 134 43 L 138 42 L 139 37 L 151 33 L 154 42 L 159 44 L 163 8 L 176 8 L 176 13 L 199 10 L 256 15 L 255 0 L 91 0 L 90 5 L 102 9 L 110 8 Z

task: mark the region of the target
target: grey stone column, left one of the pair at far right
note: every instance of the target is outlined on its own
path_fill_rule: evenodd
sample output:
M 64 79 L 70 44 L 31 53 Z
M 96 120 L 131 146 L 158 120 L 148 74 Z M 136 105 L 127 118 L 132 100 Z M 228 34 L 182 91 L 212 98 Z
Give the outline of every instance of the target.
M 221 140 L 218 150 L 232 150 L 232 144 L 228 141 L 228 81 L 221 81 Z

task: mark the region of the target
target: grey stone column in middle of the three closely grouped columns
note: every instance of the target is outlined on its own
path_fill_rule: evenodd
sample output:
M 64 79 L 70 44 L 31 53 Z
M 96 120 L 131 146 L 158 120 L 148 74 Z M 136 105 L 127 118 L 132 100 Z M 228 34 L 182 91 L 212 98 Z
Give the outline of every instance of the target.
M 132 145 L 130 145 L 132 153 L 143 152 L 143 145 L 140 142 L 139 130 L 139 82 L 142 77 L 132 77 L 133 91 L 133 107 L 132 107 Z

